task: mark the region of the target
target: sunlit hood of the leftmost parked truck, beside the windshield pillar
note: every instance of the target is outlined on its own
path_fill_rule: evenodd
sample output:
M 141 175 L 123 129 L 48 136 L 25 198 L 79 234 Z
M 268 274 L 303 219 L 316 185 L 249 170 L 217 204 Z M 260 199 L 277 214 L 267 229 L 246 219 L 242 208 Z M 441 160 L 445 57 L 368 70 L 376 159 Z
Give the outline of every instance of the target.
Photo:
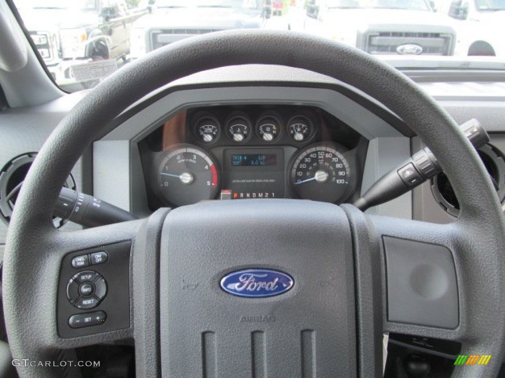
M 26 9 L 20 10 L 21 17 L 29 31 L 77 29 L 98 25 L 95 11 L 75 11 L 71 9 Z

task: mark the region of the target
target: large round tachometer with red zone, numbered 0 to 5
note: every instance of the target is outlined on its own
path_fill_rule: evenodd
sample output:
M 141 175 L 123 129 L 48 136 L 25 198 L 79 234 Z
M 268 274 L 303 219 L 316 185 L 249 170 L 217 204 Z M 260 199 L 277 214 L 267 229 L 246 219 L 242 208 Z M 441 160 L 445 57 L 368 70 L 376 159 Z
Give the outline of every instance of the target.
M 216 196 L 218 170 L 206 152 L 191 145 L 178 145 L 165 154 L 158 170 L 158 184 L 164 200 L 183 206 Z

